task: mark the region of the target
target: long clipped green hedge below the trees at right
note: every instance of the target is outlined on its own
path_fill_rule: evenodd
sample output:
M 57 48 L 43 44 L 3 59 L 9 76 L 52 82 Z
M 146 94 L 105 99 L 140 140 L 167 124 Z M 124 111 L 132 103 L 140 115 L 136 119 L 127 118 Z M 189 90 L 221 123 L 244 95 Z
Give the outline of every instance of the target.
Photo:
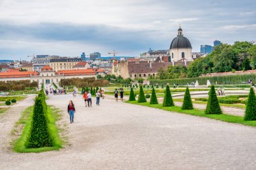
M 247 83 L 249 79 L 256 79 L 256 74 L 250 75 L 226 75 L 218 77 L 193 77 L 187 79 L 166 79 L 166 80 L 151 80 L 151 85 L 165 85 L 169 83 L 170 85 L 186 85 L 187 83 L 191 84 L 192 82 L 198 81 L 199 85 L 206 85 L 207 80 L 214 85 L 239 85 Z

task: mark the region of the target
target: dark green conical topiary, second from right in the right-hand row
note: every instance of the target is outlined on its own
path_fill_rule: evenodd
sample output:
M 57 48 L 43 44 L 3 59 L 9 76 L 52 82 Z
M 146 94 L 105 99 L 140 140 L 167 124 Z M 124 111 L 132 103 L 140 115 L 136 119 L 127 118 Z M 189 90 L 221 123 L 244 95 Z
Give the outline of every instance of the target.
M 209 97 L 205 114 L 222 114 L 222 110 L 220 109 L 220 104 L 216 95 L 214 85 L 211 86 L 210 92 L 208 94 Z

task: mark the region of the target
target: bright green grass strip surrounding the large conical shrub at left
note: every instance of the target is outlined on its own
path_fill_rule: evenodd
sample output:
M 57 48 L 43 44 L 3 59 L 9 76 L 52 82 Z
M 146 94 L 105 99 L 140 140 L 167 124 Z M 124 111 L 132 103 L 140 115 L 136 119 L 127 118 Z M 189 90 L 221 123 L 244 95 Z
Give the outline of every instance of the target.
M 20 124 L 25 124 L 22 135 L 20 136 L 20 138 L 18 138 L 18 140 L 14 142 L 13 151 L 18 153 L 40 153 L 59 150 L 63 145 L 63 140 L 61 140 L 59 136 L 60 130 L 55 124 L 55 122 L 60 119 L 60 114 L 58 113 L 59 110 L 48 105 L 46 118 L 49 127 L 49 133 L 51 139 L 53 140 L 53 146 L 44 148 L 26 148 L 26 144 L 31 133 L 33 117 L 33 107 L 31 106 L 27 108 L 22 114 L 20 120 L 18 120 L 15 125 L 15 127 L 18 127 Z M 15 132 L 15 128 L 13 132 Z

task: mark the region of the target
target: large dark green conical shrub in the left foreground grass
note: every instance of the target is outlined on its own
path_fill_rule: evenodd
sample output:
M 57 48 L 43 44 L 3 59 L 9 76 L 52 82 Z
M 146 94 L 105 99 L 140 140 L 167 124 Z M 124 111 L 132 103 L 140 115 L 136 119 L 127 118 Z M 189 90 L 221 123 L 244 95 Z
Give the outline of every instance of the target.
M 34 114 L 32 118 L 32 129 L 28 139 L 27 148 L 41 148 L 52 146 L 51 137 L 45 118 L 46 103 L 43 97 L 36 97 L 34 103 Z

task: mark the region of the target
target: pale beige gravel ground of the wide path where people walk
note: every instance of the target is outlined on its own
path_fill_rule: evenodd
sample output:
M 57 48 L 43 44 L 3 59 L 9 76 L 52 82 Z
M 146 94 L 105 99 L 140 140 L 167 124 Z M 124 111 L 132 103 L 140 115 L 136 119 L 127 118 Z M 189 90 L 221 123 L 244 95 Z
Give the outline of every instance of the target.
M 69 124 L 67 103 L 77 112 Z M 69 142 L 61 151 L 1 149 L 0 169 L 255 169 L 256 129 L 104 99 L 84 107 L 81 96 L 50 97 L 63 110 Z M 2 146 L 15 119 L 0 117 Z M 3 122 L 3 120 L 5 122 Z M 7 122 L 6 122 L 7 121 Z

